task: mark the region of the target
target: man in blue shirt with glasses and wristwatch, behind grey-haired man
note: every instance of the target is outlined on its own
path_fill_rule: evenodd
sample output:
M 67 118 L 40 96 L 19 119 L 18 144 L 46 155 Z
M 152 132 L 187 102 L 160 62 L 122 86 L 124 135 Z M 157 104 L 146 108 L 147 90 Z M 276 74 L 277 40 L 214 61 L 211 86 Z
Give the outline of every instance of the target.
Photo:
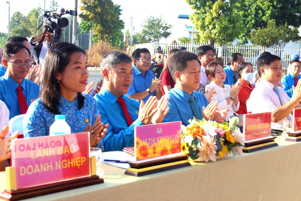
M 138 48 L 132 53 L 132 57 L 135 64 L 133 66 L 133 82 L 127 96 L 144 102 L 150 96 L 160 99 L 162 97 L 161 80 L 155 78 L 154 73 L 148 70 L 151 61 L 150 51 L 146 48 Z

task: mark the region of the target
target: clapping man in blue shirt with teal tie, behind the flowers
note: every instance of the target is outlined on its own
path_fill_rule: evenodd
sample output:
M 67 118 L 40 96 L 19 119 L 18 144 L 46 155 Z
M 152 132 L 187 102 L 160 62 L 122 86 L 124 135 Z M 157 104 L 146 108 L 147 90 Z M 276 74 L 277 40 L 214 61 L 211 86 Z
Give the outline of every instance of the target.
M 163 122 L 182 121 L 186 126 L 193 117 L 225 121 L 229 109 L 217 110 L 216 101 L 208 103 L 203 93 L 195 91 L 200 83 L 200 61 L 196 54 L 178 52 L 170 58 L 168 68 L 175 80 L 175 88 L 165 94 L 169 98 L 169 112 Z

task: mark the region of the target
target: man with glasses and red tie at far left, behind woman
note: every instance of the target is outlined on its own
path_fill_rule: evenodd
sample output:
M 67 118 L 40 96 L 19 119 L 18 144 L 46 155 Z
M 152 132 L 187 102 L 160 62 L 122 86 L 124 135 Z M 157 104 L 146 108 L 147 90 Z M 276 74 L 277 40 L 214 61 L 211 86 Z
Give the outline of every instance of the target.
M 2 63 L 7 71 L 0 78 L 0 100 L 6 104 L 11 119 L 27 112 L 39 95 L 39 85 L 25 79 L 32 62 L 22 43 L 6 43 L 2 48 Z

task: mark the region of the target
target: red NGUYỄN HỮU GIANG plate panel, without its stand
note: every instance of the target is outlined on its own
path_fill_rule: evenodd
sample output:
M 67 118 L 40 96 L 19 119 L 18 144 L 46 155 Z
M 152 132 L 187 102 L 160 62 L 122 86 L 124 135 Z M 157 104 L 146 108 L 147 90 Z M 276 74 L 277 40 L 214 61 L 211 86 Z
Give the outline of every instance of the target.
M 271 135 L 271 112 L 244 114 L 244 139 L 253 140 Z

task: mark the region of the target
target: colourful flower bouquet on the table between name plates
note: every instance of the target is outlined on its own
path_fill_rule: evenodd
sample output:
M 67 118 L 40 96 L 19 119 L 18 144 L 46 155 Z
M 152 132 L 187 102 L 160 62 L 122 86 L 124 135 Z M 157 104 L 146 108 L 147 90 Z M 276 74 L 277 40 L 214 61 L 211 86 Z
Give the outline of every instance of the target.
M 238 118 L 217 123 L 193 119 L 182 127 L 182 152 L 189 154 L 189 160 L 216 161 L 228 155 L 241 155 L 244 146 L 243 134 L 237 127 Z

